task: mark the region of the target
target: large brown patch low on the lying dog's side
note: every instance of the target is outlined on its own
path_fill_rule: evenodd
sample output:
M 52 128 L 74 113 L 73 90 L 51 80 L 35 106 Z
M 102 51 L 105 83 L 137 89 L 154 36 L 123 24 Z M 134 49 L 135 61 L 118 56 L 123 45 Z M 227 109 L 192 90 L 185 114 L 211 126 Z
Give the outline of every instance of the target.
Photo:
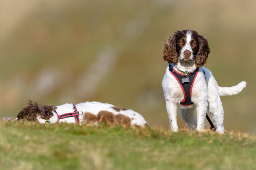
M 126 125 L 131 126 L 132 120 L 128 116 L 125 116 L 123 114 L 113 114 L 113 112 L 109 112 L 107 110 L 102 110 L 98 112 L 98 115 L 85 112 L 85 115 L 83 116 L 85 123 L 95 123 L 98 121 L 98 123 L 106 123 L 108 125 L 111 125 L 113 123 L 116 123 L 117 125 Z

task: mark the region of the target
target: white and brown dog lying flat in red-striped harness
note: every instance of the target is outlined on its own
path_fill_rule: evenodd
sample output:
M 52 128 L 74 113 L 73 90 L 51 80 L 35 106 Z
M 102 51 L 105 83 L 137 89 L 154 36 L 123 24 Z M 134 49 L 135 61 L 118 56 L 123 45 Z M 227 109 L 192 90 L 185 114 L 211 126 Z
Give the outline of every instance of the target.
M 123 109 L 108 103 L 85 102 L 77 105 L 45 106 L 29 103 L 19 112 L 17 120 L 39 121 L 40 123 L 98 123 L 126 126 L 147 126 L 147 121 L 133 110 Z

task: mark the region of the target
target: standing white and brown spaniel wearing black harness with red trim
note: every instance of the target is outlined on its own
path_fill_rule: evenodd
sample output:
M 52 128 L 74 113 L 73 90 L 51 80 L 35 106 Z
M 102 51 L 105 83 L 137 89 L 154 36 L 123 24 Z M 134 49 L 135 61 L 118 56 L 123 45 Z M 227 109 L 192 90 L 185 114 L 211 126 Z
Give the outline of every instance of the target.
M 197 31 L 176 31 L 164 44 L 163 60 L 168 61 L 162 81 L 171 130 L 178 131 L 177 104 L 189 130 L 204 131 L 207 108 L 216 132 L 224 133 L 223 107 L 220 96 L 238 94 L 246 87 L 242 81 L 233 87 L 219 87 L 211 71 L 202 67 L 210 48 L 204 36 Z M 197 110 L 197 121 L 194 116 Z

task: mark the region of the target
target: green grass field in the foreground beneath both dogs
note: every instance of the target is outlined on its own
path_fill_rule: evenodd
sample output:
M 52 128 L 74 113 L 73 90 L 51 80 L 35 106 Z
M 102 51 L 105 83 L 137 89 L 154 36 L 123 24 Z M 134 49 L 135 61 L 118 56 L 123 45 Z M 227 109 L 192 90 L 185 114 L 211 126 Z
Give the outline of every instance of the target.
M 0 169 L 256 169 L 256 135 L 0 123 Z

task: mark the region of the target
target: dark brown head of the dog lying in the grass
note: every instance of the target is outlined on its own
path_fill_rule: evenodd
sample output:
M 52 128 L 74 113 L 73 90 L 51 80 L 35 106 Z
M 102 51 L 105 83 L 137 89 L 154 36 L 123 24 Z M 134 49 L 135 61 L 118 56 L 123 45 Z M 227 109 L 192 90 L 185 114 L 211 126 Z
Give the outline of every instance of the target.
M 50 119 L 53 116 L 52 111 L 56 106 L 39 105 L 36 102 L 29 103 L 17 115 L 18 120 L 38 121 L 39 119 Z

